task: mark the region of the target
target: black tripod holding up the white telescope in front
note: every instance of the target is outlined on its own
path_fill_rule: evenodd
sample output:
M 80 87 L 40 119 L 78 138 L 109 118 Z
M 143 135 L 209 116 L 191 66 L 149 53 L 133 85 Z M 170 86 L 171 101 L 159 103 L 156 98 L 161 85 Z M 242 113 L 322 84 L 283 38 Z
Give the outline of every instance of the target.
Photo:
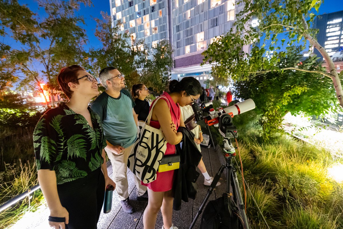
M 244 222 L 244 228 L 249 229 L 249 223 L 248 223 L 248 218 L 247 215 L 245 214 L 245 207 L 244 207 L 244 202 L 242 195 L 240 193 L 239 189 L 239 183 L 237 179 L 237 174 L 236 174 L 236 169 L 232 163 L 232 159 L 235 157 L 235 148 L 231 144 L 231 140 L 229 138 L 225 138 L 223 141 L 224 144 L 224 157 L 226 161 L 226 165 L 222 165 L 220 169 L 218 170 L 217 174 L 213 178 L 213 182 L 211 186 L 209 187 L 207 194 L 200 205 L 200 208 L 198 210 L 197 215 L 194 217 L 191 226 L 189 229 L 192 229 L 195 222 L 197 221 L 198 217 L 202 213 L 202 209 L 205 207 L 206 202 L 208 201 L 210 195 L 212 194 L 214 188 L 216 187 L 216 184 L 219 181 L 220 176 L 222 175 L 224 169 L 226 168 L 227 173 L 226 173 L 226 193 L 230 193 L 230 185 L 232 186 L 232 192 L 233 192 L 233 198 L 234 201 L 237 203 L 238 202 L 238 208 L 239 208 L 239 213 L 243 218 Z

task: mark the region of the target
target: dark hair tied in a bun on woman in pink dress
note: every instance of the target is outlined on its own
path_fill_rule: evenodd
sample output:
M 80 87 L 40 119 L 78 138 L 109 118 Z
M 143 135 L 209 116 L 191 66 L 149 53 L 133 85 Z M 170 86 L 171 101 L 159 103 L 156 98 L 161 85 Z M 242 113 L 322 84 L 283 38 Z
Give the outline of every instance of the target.
M 184 77 L 181 81 L 172 80 L 169 82 L 169 92 L 186 91 L 187 95 L 201 94 L 200 82 L 194 77 Z

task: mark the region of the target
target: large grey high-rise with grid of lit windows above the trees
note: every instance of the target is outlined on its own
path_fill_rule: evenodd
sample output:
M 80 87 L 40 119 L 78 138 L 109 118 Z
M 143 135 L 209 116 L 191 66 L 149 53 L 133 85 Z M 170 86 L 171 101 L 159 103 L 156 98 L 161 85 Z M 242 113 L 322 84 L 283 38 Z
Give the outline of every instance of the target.
M 201 53 L 228 32 L 239 10 L 235 0 L 110 0 L 110 7 L 114 24 L 123 23 L 122 33 L 144 39 L 149 48 L 169 41 L 174 49 L 172 79 L 193 76 L 201 83 L 211 70 L 210 65 L 200 66 Z

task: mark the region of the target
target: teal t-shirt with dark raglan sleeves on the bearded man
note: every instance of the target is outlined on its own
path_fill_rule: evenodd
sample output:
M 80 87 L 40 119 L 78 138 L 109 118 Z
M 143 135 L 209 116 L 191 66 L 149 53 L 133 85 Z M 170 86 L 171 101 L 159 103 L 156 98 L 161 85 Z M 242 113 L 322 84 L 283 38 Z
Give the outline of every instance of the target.
M 120 91 L 118 98 L 103 92 L 91 104 L 92 110 L 103 123 L 106 140 L 112 145 L 126 148 L 137 139 L 137 126 L 132 114 L 134 106 L 130 92 L 126 89 Z

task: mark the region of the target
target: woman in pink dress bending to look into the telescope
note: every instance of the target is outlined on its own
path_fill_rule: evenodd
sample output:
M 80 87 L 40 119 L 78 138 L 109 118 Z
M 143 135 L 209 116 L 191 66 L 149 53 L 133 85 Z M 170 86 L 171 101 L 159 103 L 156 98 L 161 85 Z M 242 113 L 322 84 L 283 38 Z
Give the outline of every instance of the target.
M 202 88 L 199 81 L 195 78 L 185 77 L 180 82 L 177 80 L 170 81 L 169 91 L 169 94 L 164 92 L 161 95 L 165 98 L 161 98 L 156 102 L 150 121 L 150 126 L 162 129 L 168 142 L 165 155 L 175 154 L 175 145 L 182 140 L 182 134 L 180 132 L 175 133 L 170 128 L 170 123 L 174 123 L 176 129 L 179 126 L 185 127 L 180 115 L 180 106 L 186 106 L 197 100 L 202 92 Z M 156 175 L 155 181 L 149 184 L 142 182 L 143 185 L 148 187 L 149 194 L 148 205 L 143 215 L 144 229 L 155 228 L 159 209 L 161 209 L 163 217 L 162 229 L 177 229 L 171 223 L 171 216 L 173 215 L 174 170 L 157 172 Z

